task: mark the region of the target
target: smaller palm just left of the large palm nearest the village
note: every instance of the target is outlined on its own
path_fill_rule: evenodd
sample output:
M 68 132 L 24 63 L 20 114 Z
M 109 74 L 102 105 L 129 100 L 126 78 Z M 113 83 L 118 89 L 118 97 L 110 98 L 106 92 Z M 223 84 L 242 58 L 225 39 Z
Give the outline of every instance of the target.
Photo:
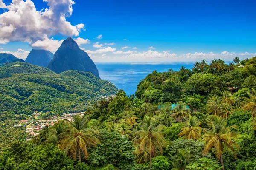
M 60 144 L 60 135 L 67 131 L 67 125 L 64 121 L 55 123 L 52 127 L 49 128 L 49 132 L 47 133 L 47 139 L 43 142 L 45 143 L 53 143 L 55 145 Z

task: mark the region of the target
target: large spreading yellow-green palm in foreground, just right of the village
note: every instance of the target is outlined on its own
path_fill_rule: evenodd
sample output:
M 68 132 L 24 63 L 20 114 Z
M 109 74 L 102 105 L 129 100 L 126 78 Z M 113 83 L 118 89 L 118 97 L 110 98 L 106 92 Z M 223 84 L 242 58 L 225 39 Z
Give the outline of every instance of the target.
M 84 153 L 84 158 L 89 157 L 87 147 L 96 146 L 99 139 L 93 136 L 96 131 L 87 129 L 88 120 L 86 117 L 81 118 L 79 115 L 73 116 L 73 122 L 67 121 L 70 125 L 70 130 L 60 134 L 60 147 L 66 150 L 69 156 L 72 156 L 76 161 L 79 157 L 81 162 L 81 152 Z

